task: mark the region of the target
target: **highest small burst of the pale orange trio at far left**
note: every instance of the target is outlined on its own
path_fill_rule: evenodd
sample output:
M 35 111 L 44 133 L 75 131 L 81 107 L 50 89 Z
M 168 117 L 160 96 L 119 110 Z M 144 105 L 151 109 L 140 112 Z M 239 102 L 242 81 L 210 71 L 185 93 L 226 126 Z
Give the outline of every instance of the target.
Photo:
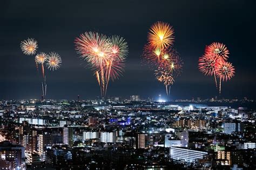
M 37 41 L 33 38 L 21 42 L 21 50 L 25 55 L 35 55 L 37 48 Z

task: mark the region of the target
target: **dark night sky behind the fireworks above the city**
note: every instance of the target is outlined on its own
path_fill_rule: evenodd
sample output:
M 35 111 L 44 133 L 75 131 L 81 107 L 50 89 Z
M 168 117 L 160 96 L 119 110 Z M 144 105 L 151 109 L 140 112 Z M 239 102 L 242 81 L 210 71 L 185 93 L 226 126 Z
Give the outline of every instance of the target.
M 152 23 L 170 23 L 174 46 L 184 61 L 183 73 L 171 87 L 171 99 L 218 96 L 213 77 L 197 69 L 198 57 L 212 42 L 230 50 L 235 77 L 223 83 L 225 98 L 255 99 L 255 1 L 1 1 L 0 99 L 41 97 L 41 74 L 34 56 L 19 44 L 32 37 L 39 52 L 55 51 L 63 59 L 59 70 L 46 70 L 48 98 L 82 99 L 99 96 L 99 87 L 74 50 L 74 39 L 85 31 L 123 36 L 129 43 L 125 73 L 111 82 L 109 96 L 143 98 L 165 93 L 165 87 L 142 65 L 141 55 Z

